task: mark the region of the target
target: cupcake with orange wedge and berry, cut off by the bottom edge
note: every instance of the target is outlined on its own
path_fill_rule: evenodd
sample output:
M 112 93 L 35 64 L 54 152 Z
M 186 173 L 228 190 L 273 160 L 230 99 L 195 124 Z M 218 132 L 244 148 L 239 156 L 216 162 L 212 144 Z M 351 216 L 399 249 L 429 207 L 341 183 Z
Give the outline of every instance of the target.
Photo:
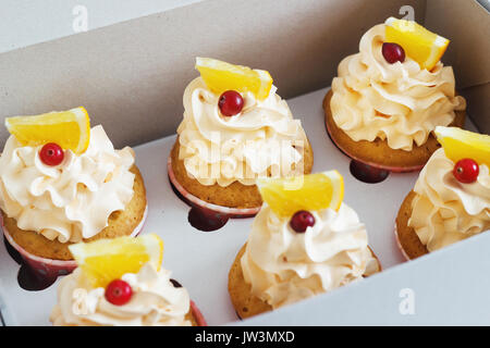
M 70 246 L 78 268 L 58 287 L 56 326 L 205 326 L 187 290 L 161 268 L 154 234 Z

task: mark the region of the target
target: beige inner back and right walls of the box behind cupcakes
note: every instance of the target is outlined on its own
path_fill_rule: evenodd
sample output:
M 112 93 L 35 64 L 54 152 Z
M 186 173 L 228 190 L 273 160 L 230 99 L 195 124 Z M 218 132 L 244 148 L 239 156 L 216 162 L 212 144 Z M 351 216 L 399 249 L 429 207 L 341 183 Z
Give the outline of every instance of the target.
M 443 60 L 455 64 L 458 88 L 480 85 L 490 75 L 489 64 L 481 64 L 490 47 L 482 35 L 490 17 L 474 0 L 283 3 L 200 1 L 1 53 L 2 116 L 82 104 L 94 124 L 106 126 L 115 147 L 143 144 L 175 132 L 183 90 L 197 76 L 196 55 L 269 70 L 287 99 L 329 86 L 339 62 L 358 51 L 360 36 L 407 5 L 417 22 L 427 17 L 429 28 L 452 40 Z M 241 15 L 230 15 L 230 9 Z M 468 50 L 471 54 L 462 54 Z M 0 127 L 0 144 L 7 137 Z

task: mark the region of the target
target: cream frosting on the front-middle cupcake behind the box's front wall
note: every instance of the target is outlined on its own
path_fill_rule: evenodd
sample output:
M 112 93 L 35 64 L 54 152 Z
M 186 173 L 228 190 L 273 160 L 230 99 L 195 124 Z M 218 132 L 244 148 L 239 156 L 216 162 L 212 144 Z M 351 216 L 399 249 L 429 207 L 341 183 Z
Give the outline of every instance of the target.
M 290 226 L 265 203 L 254 220 L 241 265 L 252 293 L 272 308 L 330 291 L 377 272 L 367 232 L 356 212 L 342 203 L 338 212 L 311 212 L 305 233 Z

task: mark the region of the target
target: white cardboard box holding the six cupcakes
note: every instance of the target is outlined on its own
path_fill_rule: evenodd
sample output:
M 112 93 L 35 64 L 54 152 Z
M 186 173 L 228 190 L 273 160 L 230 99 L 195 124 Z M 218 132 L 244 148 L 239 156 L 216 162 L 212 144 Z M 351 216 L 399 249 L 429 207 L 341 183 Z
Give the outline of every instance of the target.
M 3 117 L 83 104 L 115 146 L 136 146 L 150 204 L 145 231 L 166 240 L 164 266 L 188 288 L 209 324 L 236 324 L 228 270 L 252 219 L 230 221 L 215 233 L 196 232 L 187 223 L 187 206 L 170 189 L 166 161 L 182 120 L 184 87 L 197 75 L 196 55 L 267 69 L 303 121 L 315 150 L 314 171 L 335 167 L 344 175 L 345 201 L 366 223 L 385 271 L 243 324 L 490 324 L 490 236 L 400 264 L 394 219 L 417 174 L 391 174 L 380 184 L 358 182 L 322 123 L 324 87 L 340 60 L 358 51 L 366 29 L 399 16 L 402 5 L 411 5 L 418 22 L 452 40 L 443 61 L 454 67 L 469 116 L 488 133 L 490 44 L 485 33 L 490 18 L 474 0 L 201 1 L 0 54 L 0 110 Z M 474 129 L 469 120 L 467 127 Z M 0 144 L 5 138 L 1 128 Z M 159 140 L 147 142 L 154 139 Z M 17 268 L 1 244 L 3 321 L 49 324 L 56 286 L 23 290 L 16 284 Z M 401 313 L 401 291 L 415 295 L 415 314 Z

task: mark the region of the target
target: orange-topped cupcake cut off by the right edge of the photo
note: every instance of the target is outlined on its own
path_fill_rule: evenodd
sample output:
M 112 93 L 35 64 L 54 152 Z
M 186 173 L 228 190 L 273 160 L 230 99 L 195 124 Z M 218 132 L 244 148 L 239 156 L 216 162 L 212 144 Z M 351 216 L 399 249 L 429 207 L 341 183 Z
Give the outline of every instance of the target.
M 395 236 L 415 259 L 490 229 L 490 137 L 437 127 L 437 150 L 403 201 Z

